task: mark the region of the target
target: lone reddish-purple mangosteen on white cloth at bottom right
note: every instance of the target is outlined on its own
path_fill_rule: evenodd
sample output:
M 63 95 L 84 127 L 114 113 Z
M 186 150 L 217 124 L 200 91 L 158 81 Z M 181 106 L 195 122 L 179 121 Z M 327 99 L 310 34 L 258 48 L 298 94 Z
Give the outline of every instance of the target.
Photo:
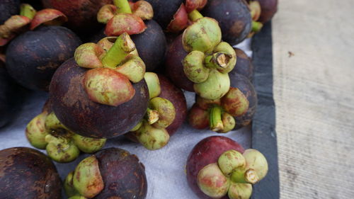
M 268 172 L 268 163 L 256 149 L 246 149 L 227 137 L 207 137 L 192 149 L 187 180 L 198 198 L 248 199 L 252 184 Z

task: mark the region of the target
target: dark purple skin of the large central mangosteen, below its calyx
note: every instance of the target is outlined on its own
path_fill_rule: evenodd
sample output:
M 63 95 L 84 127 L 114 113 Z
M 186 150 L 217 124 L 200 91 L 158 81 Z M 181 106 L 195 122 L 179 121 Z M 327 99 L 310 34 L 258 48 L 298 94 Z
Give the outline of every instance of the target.
M 125 134 L 144 116 L 149 103 L 149 91 L 144 81 L 132 84 L 135 95 L 119 106 L 106 106 L 89 99 L 84 90 L 84 74 L 74 59 L 64 62 L 50 84 L 52 109 L 69 130 L 84 137 L 110 138 Z M 130 115 L 130 117 L 127 117 Z

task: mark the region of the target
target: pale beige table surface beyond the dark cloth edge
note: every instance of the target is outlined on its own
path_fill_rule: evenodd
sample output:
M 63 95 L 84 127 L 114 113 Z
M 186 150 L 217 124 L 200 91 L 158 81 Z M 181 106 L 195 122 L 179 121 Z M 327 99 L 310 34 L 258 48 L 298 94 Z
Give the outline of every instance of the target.
M 352 0 L 279 1 L 272 24 L 281 198 L 354 198 L 353 18 Z

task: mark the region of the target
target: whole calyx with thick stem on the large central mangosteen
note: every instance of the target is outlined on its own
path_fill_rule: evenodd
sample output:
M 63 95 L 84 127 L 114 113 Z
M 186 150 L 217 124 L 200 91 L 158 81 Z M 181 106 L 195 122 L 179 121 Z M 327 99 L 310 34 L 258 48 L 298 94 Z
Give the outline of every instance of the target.
M 141 81 L 146 69 L 127 33 L 80 45 L 74 58 L 80 67 L 91 69 L 83 81 L 88 97 L 108 106 L 130 101 L 135 95 L 131 82 Z

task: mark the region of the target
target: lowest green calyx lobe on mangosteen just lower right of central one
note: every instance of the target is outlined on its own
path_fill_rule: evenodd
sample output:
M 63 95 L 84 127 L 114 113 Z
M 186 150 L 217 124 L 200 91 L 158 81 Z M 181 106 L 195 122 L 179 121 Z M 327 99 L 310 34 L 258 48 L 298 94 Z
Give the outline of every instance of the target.
M 170 139 L 169 132 L 164 128 L 156 128 L 146 120 L 142 121 L 142 125 L 138 130 L 132 132 L 140 144 L 149 150 L 161 149 Z

